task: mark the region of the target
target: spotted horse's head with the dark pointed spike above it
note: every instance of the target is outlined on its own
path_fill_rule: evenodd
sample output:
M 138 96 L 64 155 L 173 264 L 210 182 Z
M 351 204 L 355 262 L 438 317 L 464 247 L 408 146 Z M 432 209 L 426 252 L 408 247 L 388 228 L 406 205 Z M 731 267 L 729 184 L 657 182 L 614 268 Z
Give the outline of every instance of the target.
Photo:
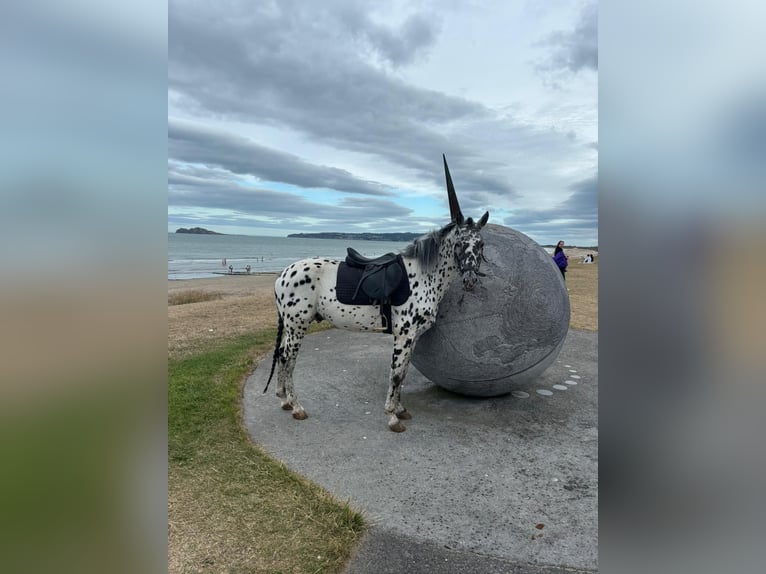
M 452 184 L 449 167 L 447 167 L 447 158 L 444 155 L 442 157 L 444 158 L 444 174 L 447 178 L 450 216 L 457 228 L 455 261 L 463 278 L 463 289 L 471 291 L 476 286 L 479 277 L 484 275 L 479 271 L 481 261 L 484 259 L 484 240 L 481 238 L 480 232 L 489 219 L 489 211 L 485 212 L 478 222 L 474 222 L 470 217 L 468 219 L 463 217 L 455 193 L 455 186 Z

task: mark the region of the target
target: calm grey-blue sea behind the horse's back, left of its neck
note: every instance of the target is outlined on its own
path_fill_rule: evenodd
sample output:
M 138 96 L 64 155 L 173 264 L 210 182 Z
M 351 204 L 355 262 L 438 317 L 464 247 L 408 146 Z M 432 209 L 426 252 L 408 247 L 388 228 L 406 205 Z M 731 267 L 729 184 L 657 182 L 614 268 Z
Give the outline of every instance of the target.
M 366 241 L 350 239 L 308 239 L 259 237 L 255 235 L 197 235 L 168 233 L 168 279 L 204 279 L 235 273 L 280 272 L 307 257 L 343 259 L 346 248 L 376 257 L 398 253 L 408 241 Z

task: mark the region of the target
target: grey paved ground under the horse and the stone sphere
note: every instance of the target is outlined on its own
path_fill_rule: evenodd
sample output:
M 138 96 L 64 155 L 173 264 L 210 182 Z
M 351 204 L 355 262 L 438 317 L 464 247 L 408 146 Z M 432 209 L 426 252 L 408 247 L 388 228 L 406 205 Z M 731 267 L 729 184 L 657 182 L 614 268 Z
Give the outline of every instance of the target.
M 390 335 L 307 337 L 304 421 L 279 408 L 274 381 L 262 393 L 271 357 L 245 386 L 253 440 L 372 525 L 347 574 L 597 570 L 598 335 L 570 330 L 553 365 L 515 389 L 528 397 L 456 395 L 410 367 L 404 433 L 383 414 L 391 350 Z

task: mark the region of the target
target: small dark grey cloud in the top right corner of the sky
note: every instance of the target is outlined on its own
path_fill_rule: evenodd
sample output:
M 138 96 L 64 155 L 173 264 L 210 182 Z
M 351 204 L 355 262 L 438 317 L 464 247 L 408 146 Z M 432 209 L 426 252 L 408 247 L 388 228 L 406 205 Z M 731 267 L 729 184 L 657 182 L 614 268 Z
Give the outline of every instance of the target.
M 541 44 L 553 48 L 543 71 L 598 71 L 598 4 L 583 6 L 572 30 L 553 32 Z

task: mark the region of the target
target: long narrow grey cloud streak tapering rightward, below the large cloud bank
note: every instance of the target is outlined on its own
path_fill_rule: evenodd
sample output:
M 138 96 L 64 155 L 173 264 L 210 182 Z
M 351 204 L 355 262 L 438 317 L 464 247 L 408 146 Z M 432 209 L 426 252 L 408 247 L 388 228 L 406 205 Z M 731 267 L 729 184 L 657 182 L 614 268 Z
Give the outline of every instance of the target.
M 168 119 L 168 156 L 177 161 L 215 165 L 233 173 L 299 187 L 327 187 L 363 195 L 392 195 L 386 186 L 361 180 L 345 170 L 315 166 L 244 137 L 173 118 Z

